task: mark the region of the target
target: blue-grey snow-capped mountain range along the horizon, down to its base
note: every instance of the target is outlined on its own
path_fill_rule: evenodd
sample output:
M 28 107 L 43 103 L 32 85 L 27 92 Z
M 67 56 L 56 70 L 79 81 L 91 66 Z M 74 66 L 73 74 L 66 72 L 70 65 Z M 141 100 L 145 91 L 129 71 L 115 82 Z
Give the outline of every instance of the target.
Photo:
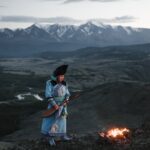
M 150 42 L 150 29 L 87 22 L 75 25 L 33 24 L 25 29 L 0 29 L 1 57 L 31 56 L 45 51 L 71 51 L 89 46 Z

